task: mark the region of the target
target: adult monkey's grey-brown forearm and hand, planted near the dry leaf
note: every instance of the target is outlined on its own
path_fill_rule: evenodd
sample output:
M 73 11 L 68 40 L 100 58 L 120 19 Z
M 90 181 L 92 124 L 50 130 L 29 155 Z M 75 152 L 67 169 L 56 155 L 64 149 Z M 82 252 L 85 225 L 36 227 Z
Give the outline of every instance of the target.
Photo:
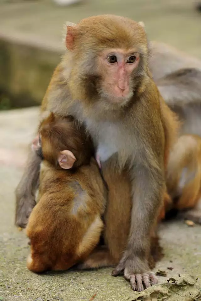
M 149 164 L 149 163 L 148 163 Z M 165 192 L 164 176 L 156 166 L 139 164 L 133 171 L 133 208 L 127 249 L 112 275 L 124 270 L 133 290 L 142 291 L 157 283 L 149 270 L 150 238 Z

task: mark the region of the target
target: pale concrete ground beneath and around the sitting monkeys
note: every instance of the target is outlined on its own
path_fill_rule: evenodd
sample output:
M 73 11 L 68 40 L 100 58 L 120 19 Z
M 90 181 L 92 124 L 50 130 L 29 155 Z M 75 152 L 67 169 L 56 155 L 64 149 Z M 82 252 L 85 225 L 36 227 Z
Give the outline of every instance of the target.
M 29 246 L 24 231 L 14 227 L 14 188 L 23 172 L 38 111 L 26 108 L 0 112 L 0 300 L 89 301 L 96 293 L 95 301 L 122 301 L 132 290 L 123 277 L 111 276 L 111 268 L 42 275 L 26 268 Z M 165 270 L 167 277 L 184 272 L 201 277 L 201 226 L 166 222 L 160 226 L 160 238 L 165 256 L 154 271 Z

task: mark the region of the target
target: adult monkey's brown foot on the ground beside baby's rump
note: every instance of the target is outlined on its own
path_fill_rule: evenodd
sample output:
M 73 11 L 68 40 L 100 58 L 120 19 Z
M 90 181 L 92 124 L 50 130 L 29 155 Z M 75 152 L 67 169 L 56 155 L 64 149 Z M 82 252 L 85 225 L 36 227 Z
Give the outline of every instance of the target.
M 107 248 L 97 247 L 77 268 L 84 270 L 98 267 L 112 267 L 115 263 L 117 264 L 117 261 L 114 261 Z

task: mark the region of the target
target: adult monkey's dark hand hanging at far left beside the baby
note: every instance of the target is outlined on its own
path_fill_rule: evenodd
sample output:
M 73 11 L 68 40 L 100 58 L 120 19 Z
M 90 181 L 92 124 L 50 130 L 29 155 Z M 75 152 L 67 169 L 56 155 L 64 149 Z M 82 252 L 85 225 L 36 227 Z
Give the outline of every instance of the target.
M 25 228 L 31 211 L 36 204 L 35 197 L 33 195 L 20 197 L 19 194 L 16 193 L 16 198 L 17 208 L 15 214 L 15 224 L 18 227 Z

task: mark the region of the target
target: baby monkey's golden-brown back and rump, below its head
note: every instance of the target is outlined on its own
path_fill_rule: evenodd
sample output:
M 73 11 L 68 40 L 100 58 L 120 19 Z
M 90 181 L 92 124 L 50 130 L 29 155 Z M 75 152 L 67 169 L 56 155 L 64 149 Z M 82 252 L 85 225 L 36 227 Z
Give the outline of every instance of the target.
M 40 180 L 39 202 L 26 228 L 31 242 L 27 267 L 35 272 L 66 270 L 99 241 L 104 183 L 93 158 L 75 172 L 55 169 L 44 161 Z

